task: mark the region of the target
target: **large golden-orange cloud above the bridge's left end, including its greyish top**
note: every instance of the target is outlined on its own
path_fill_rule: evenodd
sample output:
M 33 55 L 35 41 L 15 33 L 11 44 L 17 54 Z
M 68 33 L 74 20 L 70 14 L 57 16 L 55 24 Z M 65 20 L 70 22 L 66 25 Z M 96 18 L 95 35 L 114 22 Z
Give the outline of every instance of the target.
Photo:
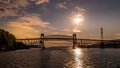
M 15 21 L 8 22 L 6 28 L 15 34 L 17 38 L 38 37 L 41 28 L 47 28 L 49 23 L 44 22 L 38 15 L 31 14 L 19 17 Z M 37 27 L 37 28 L 36 28 Z

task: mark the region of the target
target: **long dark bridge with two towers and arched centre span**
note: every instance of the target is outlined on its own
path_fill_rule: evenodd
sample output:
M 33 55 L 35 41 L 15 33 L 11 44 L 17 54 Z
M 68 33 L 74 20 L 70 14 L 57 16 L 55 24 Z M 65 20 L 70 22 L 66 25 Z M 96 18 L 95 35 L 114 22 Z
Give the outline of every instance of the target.
M 45 36 L 43 33 L 41 33 L 40 38 L 26 38 L 26 39 L 17 39 L 17 42 L 23 42 L 25 45 L 32 46 L 32 47 L 41 47 L 45 48 L 45 41 L 67 41 L 72 42 L 72 48 L 75 48 L 75 46 L 79 47 L 89 47 L 90 45 L 100 43 L 101 40 L 97 39 L 79 39 L 77 38 L 76 34 L 73 34 L 72 36 L 68 35 L 47 35 Z

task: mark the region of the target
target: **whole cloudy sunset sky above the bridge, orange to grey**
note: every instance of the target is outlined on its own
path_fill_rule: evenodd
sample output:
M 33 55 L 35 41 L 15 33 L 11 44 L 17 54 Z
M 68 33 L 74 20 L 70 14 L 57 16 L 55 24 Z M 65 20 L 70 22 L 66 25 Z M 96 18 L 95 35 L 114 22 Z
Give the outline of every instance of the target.
M 101 27 L 104 39 L 120 39 L 120 0 L 0 0 L 0 28 L 17 38 L 76 33 L 99 39 Z

